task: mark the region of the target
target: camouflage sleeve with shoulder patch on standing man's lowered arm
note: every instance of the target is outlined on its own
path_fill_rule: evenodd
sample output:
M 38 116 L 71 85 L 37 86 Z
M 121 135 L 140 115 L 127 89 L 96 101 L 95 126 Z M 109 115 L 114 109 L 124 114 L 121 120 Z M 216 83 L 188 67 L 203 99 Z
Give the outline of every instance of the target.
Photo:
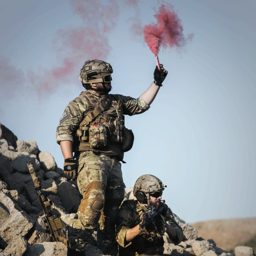
M 79 127 L 87 105 L 88 102 L 78 97 L 65 107 L 64 113 L 60 118 L 60 124 L 56 130 L 56 140 L 58 144 L 60 144 L 61 141 L 73 142 L 72 133 Z

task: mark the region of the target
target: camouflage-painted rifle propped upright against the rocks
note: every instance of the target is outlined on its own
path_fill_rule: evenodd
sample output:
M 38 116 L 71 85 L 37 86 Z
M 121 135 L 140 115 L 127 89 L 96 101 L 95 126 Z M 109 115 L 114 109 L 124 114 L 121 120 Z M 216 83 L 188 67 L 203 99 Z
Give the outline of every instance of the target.
M 35 185 L 35 191 L 37 191 L 41 206 L 43 208 L 44 215 L 41 218 L 44 221 L 51 242 L 62 242 L 64 245 L 70 247 L 69 239 L 65 238 L 61 230 L 64 227 L 61 218 L 55 218 L 53 216 L 51 210 L 52 201 L 42 194 L 41 183 L 38 180 L 37 173 L 35 172 L 34 163 L 32 161 L 28 162 L 27 166 L 33 183 Z

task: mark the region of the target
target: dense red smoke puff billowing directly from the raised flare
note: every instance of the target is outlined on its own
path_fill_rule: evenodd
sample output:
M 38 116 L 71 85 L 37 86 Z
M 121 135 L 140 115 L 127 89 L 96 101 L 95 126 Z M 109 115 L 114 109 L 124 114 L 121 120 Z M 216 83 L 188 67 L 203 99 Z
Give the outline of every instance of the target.
M 154 15 L 157 20 L 156 24 L 146 25 L 143 33 L 144 39 L 150 50 L 157 55 L 159 48 L 180 47 L 186 42 L 183 34 L 181 20 L 177 13 L 173 11 L 171 4 L 162 4 L 158 12 Z M 188 39 L 193 38 L 193 34 Z

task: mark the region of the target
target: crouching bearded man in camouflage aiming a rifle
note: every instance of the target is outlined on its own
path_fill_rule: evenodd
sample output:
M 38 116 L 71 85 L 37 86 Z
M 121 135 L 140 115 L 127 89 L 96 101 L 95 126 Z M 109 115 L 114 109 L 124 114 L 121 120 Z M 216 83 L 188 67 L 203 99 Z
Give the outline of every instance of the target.
M 166 232 L 177 245 L 183 239 L 182 228 L 171 209 L 162 202 L 164 185 L 154 175 L 142 175 L 134 184 L 137 200 L 126 200 L 120 206 L 116 224 L 119 256 L 162 255 Z

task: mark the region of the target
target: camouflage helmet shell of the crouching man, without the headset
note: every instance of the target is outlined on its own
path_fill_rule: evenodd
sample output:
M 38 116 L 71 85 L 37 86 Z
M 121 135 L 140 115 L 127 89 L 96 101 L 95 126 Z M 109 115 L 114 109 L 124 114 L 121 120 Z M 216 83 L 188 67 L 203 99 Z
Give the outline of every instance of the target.
M 133 195 L 136 196 L 138 191 L 152 193 L 164 190 L 164 184 L 156 176 L 144 174 L 140 176 L 134 184 Z

